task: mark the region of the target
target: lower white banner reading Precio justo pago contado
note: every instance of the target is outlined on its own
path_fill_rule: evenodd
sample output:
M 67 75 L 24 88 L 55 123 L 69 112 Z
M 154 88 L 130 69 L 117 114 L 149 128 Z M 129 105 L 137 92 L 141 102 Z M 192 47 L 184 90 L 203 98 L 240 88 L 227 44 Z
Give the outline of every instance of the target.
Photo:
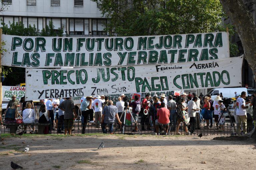
M 176 64 L 26 69 L 28 100 L 241 86 L 242 57 Z

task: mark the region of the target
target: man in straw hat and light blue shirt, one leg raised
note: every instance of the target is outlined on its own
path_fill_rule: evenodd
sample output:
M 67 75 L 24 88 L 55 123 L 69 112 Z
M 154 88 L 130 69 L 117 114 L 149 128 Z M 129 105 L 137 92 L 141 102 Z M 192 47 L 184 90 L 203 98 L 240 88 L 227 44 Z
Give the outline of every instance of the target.
M 92 98 L 92 96 L 87 96 L 81 103 L 80 110 L 82 112 L 82 134 L 85 133 L 88 115 L 90 115 L 90 121 L 93 121 Z

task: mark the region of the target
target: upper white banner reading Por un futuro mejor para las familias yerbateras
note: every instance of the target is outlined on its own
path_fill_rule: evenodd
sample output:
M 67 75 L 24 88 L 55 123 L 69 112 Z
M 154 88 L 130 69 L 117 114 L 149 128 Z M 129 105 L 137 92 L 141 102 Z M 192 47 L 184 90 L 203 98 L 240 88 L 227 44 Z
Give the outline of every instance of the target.
M 2 65 L 26 68 L 124 66 L 229 57 L 228 33 L 136 37 L 21 37 L 2 35 Z

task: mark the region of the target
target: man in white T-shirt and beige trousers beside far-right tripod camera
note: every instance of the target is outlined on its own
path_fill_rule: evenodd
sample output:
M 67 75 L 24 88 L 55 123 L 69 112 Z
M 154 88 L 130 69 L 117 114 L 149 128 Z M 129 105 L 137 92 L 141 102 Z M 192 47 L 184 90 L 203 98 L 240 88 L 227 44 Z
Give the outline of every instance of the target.
M 247 133 L 246 132 L 246 127 L 247 127 L 247 115 L 246 115 L 246 109 L 248 108 L 247 105 L 250 102 L 246 102 L 244 98 L 246 97 L 246 92 L 242 92 L 241 93 L 241 97 L 236 99 L 236 115 L 237 115 L 237 122 L 238 122 L 238 128 L 237 128 L 237 132 L 238 134 L 240 134 L 240 127 L 241 127 L 241 123 L 242 123 L 242 130 L 243 132 L 241 132 L 241 134 L 243 133 Z

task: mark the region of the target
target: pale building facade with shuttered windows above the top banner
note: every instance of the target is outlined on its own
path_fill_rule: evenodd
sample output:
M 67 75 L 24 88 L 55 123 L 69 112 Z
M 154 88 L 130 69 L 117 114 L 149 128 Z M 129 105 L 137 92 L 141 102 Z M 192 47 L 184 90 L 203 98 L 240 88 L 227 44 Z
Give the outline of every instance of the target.
M 51 20 L 70 36 L 107 36 L 107 20 L 98 9 L 100 2 L 90 0 L 1 0 L 5 8 L 0 19 L 5 24 L 22 22 L 40 32 Z

